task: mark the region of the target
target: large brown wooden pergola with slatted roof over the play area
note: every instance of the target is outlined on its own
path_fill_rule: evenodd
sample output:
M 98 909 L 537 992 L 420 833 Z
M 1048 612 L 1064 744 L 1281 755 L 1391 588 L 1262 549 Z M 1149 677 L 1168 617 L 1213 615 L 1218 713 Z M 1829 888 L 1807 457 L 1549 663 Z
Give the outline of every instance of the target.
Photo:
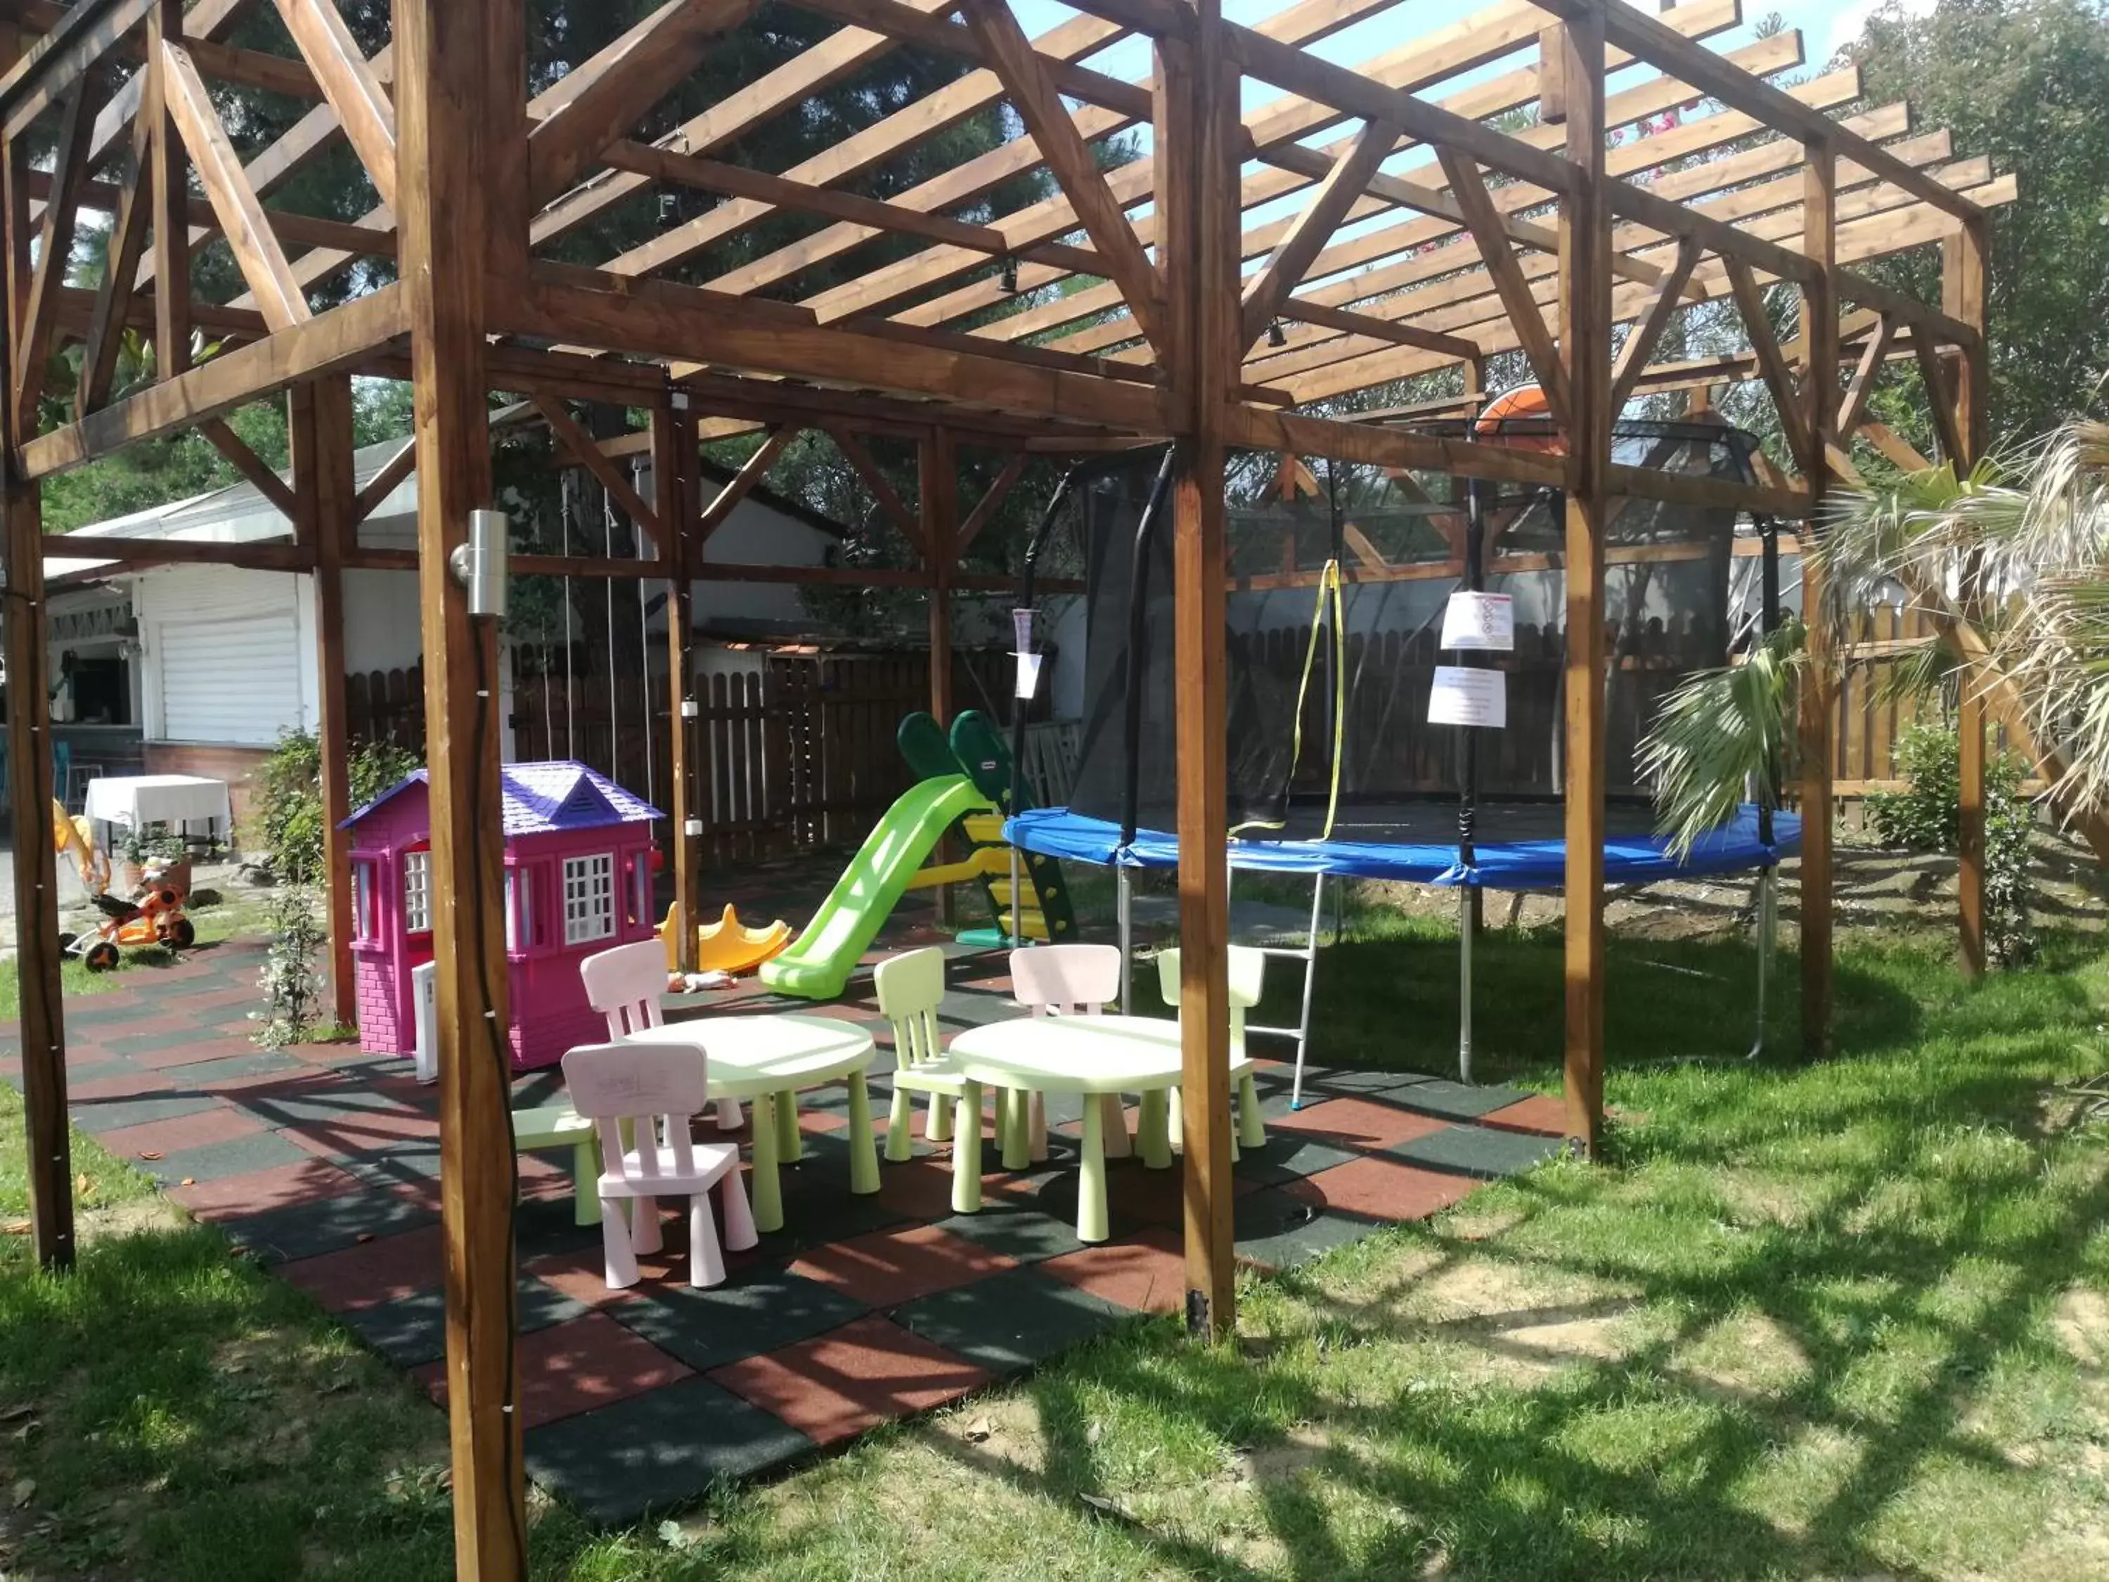
M 692 702 L 688 599 L 702 544 L 793 435 L 833 435 L 915 546 L 920 570 L 890 580 L 930 595 L 932 677 L 945 673 L 951 595 L 974 586 L 960 555 L 1029 456 L 1177 443 L 1181 1012 L 1196 1099 L 1185 1105 L 1185 1247 L 1187 1316 L 1200 1331 L 1221 1331 L 1232 1316 L 1225 451 L 1563 489 L 1565 1080 L 1571 1139 L 1590 1152 L 1603 1118 L 1607 502 L 1639 496 L 1810 521 L 1833 481 L 1854 477 L 1856 437 L 1917 460 L 1869 418 L 1869 390 L 1890 359 L 1915 361 L 1949 460 L 1970 464 L 1985 447 L 1987 209 L 2012 198 L 2012 179 L 1959 158 L 1944 133 L 1913 129 L 1904 105 L 1854 108 L 1860 82 L 1850 67 L 1774 86 L 1767 78 L 1801 65 L 1793 34 L 1710 49 L 1742 21 L 1738 0 L 1687 0 L 1660 15 L 1624 0 L 1495 0 L 1428 32 L 1400 27 L 1405 42 L 1354 67 L 1314 46 L 1396 0 L 1289 0 L 1255 27 L 1223 19 L 1219 0 L 1069 0 L 1078 15 L 1040 38 L 1025 36 L 1004 0 L 791 2 L 839 30 L 641 141 L 635 129 L 757 0 L 666 0 L 534 97 L 525 0 L 394 0 L 392 38 L 371 57 L 329 0 L 0 0 L 0 65 L 11 63 L 0 80 L 8 751 L 15 806 L 30 810 L 17 823 L 15 873 L 36 1247 L 46 1263 L 72 1257 L 57 875 L 51 844 L 25 837 L 53 774 L 42 561 L 67 548 L 42 536 L 40 483 L 196 428 L 283 504 L 293 542 L 97 538 L 95 555 L 316 578 L 331 825 L 348 810 L 342 574 L 420 574 L 462 1576 L 515 1576 L 523 1563 L 508 1344 L 498 637 L 468 616 L 447 570 L 470 513 L 491 504 L 494 392 L 534 403 L 567 460 L 601 479 L 654 548 L 620 561 L 517 557 L 512 570 L 666 580 L 675 719 L 692 713 L 681 709 Z M 230 44 L 230 27 L 264 4 L 283 21 L 283 49 Z M 1090 63 L 1130 38 L 1152 57 L 1141 80 Z M 892 51 L 972 70 L 789 171 L 730 158 L 742 135 Z M 238 150 L 215 110 L 215 82 L 297 95 L 312 110 L 274 143 Z M 1242 108 L 1249 84 L 1259 93 Z M 1021 129 L 1010 141 L 884 200 L 854 190 L 890 156 L 998 103 Z M 1535 118 L 1516 114 L 1527 110 Z M 1645 137 L 1622 135 L 1643 127 Z M 1147 129 L 1145 156 L 1101 165 L 1097 146 L 1135 129 Z M 344 224 L 270 202 L 289 173 L 340 141 L 371 186 L 369 213 Z M 49 169 L 32 148 L 55 150 Z M 1050 196 L 960 217 L 1029 171 L 1046 173 Z M 563 243 L 586 221 L 650 190 L 715 205 L 669 217 L 597 266 L 553 255 L 569 251 Z M 110 268 L 93 289 L 65 278 L 84 211 L 112 224 Z M 715 243 L 780 215 L 812 226 L 700 285 L 671 278 Z M 848 283 L 801 289 L 810 270 L 875 236 L 920 247 Z M 213 243 L 232 251 L 247 287 L 228 302 L 192 291 L 192 255 Z M 1940 302 L 1858 268 L 1919 247 L 1940 249 Z M 316 289 L 344 278 L 361 285 L 316 310 Z M 1774 285 L 1799 302 L 1784 342 L 1767 314 Z M 1023 297 L 1017 310 L 991 314 L 1010 297 Z M 1734 304 L 1748 346 L 1658 361 L 1675 314 L 1706 302 Z M 154 380 L 112 399 L 127 327 L 150 333 Z M 192 329 L 219 342 L 194 367 Z M 74 342 L 78 392 L 49 426 L 49 369 Z M 1563 454 L 1434 439 L 1400 422 L 1411 413 L 1358 411 L 1373 405 L 1365 392 L 1459 369 L 1464 394 L 1440 405 L 1468 413 L 1499 352 L 1518 352 L 1546 390 Z M 363 494 L 350 460 L 354 373 L 415 386 L 415 441 Z M 1791 466 L 1742 487 L 1613 464 L 1611 422 L 1630 397 L 1683 390 L 1704 403 L 1708 388 L 1731 382 L 1769 392 Z M 224 422 L 274 392 L 291 403 L 291 485 Z M 567 399 L 647 409 L 650 430 L 595 439 Z M 704 489 L 698 443 L 751 430 L 768 432 L 755 460 L 728 487 Z M 915 502 L 879 472 L 871 435 L 917 447 Z M 966 515 L 960 445 L 1010 454 L 998 491 Z M 650 500 L 618 466 L 639 451 L 652 458 Z M 411 468 L 415 555 L 361 551 L 359 519 Z M 1814 567 L 1803 597 L 1816 597 Z M 1966 614 L 1951 612 L 1963 633 Z M 1812 641 L 1820 633 L 1812 624 Z M 941 679 L 934 690 L 943 707 Z M 1963 947 L 1974 966 L 1985 700 L 1966 694 Z M 1829 694 L 1805 688 L 1801 966 L 1812 1053 L 1824 1046 L 1831 1000 L 1826 726 Z M 702 772 L 683 732 L 671 789 L 683 941 L 702 884 L 690 823 Z M 342 983 L 342 844 L 331 871 Z

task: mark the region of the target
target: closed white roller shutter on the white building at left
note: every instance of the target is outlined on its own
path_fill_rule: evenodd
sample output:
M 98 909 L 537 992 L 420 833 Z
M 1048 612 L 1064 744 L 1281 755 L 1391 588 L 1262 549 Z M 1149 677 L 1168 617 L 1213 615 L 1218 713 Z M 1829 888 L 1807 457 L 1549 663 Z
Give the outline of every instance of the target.
M 215 567 L 213 582 L 188 574 L 171 582 L 156 591 L 160 618 L 150 639 L 160 738 L 270 747 L 280 730 L 302 728 L 293 578 L 230 578 Z

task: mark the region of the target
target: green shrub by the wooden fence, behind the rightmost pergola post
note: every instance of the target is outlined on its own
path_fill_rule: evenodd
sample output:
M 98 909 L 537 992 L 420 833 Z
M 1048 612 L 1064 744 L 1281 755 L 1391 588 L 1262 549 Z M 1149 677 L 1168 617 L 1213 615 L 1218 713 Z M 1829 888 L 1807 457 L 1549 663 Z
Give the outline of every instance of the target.
M 1953 852 L 1961 844 L 1961 766 L 1955 732 L 1909 726 L 1896 740 L 1902 791 L 1869 791 L 1866 818 L 1883 846 Z M 2020 793 L 2023 761 L 1999 753 L 1985 766 L 1985 953 L 2016 966 L 2035 947 L 2029 934 L 2029 842 L 2035 812 Z

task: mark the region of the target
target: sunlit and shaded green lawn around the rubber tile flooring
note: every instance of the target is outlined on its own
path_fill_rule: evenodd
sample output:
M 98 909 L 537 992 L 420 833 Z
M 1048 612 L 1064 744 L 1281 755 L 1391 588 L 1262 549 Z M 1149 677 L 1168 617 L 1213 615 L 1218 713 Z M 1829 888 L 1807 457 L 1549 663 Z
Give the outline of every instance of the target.
M 1833 1061 L 1639 1059 L 1740 1053 L 1748 956 L 1613 941 L 1607 1164 L 1246 1278 L 1234 1344 L 1139 1323 L 664 1525 L 538 1502 L 538 1574 L 2109 1574 L 2109 1137 L 2056 1099 L 2109 1065 L 2109 956 L 2052 937 L 1968 985 L 1944 937 L 1854 939 Z M 1552 1082 L 1559 970 L 1489 943 L 1487 1074 Z M 1320 972 L 1333 1048 L 1451 1053 L 1453 939 L 1365 918 Z M 80 1171 L 76 1276 L 0 1245 L 0 1567 L 445 1576 L 439 1415 L 93 1145 Z

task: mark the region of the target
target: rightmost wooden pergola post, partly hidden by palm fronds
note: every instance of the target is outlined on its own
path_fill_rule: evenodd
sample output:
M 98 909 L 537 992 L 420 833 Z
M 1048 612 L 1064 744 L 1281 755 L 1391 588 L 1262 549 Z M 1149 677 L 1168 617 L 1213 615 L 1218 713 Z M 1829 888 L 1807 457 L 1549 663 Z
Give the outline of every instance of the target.
M 1972 466 L 1985 460 L 1991 441 L 1991 369 L 1985 356 L 1985 270 L 1989 234 L 1985 219 L 1963 224 L 1963 228 L 1940 243 L 1940 297 L 1951 319 L 1961 319 L 1978 331 L 1976 346 L 1961 348 L 1955 365 L 1955 432 L 1961 437 L 1963 454 L 1951 456 L 1957 477 L 1966 477 Z M 1940 401 L 1940 390 L 1928 390 L 1928 401 Z M 1963 616 L 1980 622 L 1976 574 L 1966 576 L 1961 589 Z M 1987 675 L 1976 669 L 1963 671 L 1961 702 L 1957 707 L 1957 911 L 1961 924 L 1963 970 L 1972 977 L 1985 970 L 1985 686 Z

